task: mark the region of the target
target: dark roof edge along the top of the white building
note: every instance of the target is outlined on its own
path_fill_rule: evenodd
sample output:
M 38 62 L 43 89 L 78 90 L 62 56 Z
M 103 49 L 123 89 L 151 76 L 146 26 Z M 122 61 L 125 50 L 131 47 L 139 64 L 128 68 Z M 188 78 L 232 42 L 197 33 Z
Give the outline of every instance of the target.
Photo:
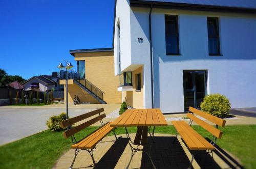
M 255 0 L 131 0 L 130 6 L 256 13 Z

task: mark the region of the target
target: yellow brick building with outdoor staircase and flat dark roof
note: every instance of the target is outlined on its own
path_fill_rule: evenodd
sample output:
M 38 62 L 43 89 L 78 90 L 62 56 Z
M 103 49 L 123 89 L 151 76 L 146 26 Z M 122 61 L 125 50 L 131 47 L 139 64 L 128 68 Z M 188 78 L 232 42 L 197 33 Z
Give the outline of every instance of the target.
M 70 50 L 70 54 L 77 62 L 77 72 L 71 70 L 68 74 L 71 78 L 68 82 L 69 103 L 73 103 L 75 95 L 79 95 L 80 102 L 121 103 L 121 93 L 116 89 L 119 77 L 114 73 L 113 48 Z M 65 70 L 61 72 L 65 79 Z M 60 84 L 66 86 L 66 81 L 60 80 Z

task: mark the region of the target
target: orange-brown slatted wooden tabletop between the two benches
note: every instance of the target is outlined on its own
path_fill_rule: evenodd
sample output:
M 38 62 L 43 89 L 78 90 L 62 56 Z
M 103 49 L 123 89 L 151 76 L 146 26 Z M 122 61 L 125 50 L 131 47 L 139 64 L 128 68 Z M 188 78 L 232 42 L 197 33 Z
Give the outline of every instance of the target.
M 167 126 L 167 122 L 159 108 L 127 109 L 110 126 Z

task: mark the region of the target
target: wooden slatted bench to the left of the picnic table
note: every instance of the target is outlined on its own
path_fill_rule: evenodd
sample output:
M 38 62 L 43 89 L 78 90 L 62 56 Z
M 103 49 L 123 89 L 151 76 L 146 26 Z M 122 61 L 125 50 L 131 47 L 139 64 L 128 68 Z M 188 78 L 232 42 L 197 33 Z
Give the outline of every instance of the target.
M 115 133 L 115 127 L 111 127 L 110 124 L 111 122 L 108 123 L 103 123 L 102 119 L 106 117 L 105 114 L 100 114 L 101 112 L 103 112 L 104 109 L 100 108 L 91 112 L 88 112 L 86 114 L 65 120 L 63 122 L 60 122 L 60 126 L 62 128 L 67 127 L 68 129 L 63 133 L 65 138 L 71 137 L 72 139 L 72 143 L 73 145 L 71 146 L 72 149 L 75 149 L 75 156 L 73 159 L 73 162 L 70 166 L 70 168 L 73 167 L 73 164 L 75 162 L 76 156 L 78 154 L 78 152 L 80 150 L 86 150 L 89 152 L 89 154 L 91 155 L 92 161 L 94 166 L 96 165 L 96 162 L 94 160 L 93 157 L 93 150 L 96 149 L 96 145 L 111 131 L 114 132 L 115 137 L 116 137 L 116 133 Z M 94 118 L 92 118 L 91 120 L 88 120 L 78 126 L 75 127 L 71 127 L 74 123 L 80 122 L 84 119 L 90 118 L 96 116 Z M 86 137 L 80 139 L 79 141 L 76 141 L 75 138 L 75 133 L 83 130 L 86 127 L 91 126 L 92 124 L 96 123 L 100 121 L 100 124 L 102 125 L 101 127 L 99 127 L 97 130 L 93 131 L 92 133 L 90 133 L 89 135 L 87 135 Z M 116 137 L 117 140 L 117 137 Z

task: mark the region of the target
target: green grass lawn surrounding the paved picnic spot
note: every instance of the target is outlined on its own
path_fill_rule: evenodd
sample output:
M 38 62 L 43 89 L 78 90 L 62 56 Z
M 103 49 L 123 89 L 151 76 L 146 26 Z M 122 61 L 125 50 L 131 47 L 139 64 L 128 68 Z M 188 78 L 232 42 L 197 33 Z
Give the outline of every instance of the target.
M 97 127 L 88 127 L 78 132 L 77 140 L 84 134 L 89 134 Z M 199 126 L 193 126 L 204 137 L 211 138 L 210 134 Z M 224 133 L 217 145 L 237 156 L 246 168 L 256 168 L 256 125 L 227 125 L 221 129 Z M 118 128 L 117 134 L 124 134 L 124 128 Z M 135 133 L 136 127 L 129 128 Z M 156 133 L 175 134 L 173 126 L 157 127 Z M 112 133 L 110 133 L 112 135 Z M 0 147 L 1 168 L 52 168 L 61 154 L 68 151 L 71 139 L 63 138 L 62 132 L 49 130 L 17 140 L 16 142 Z

